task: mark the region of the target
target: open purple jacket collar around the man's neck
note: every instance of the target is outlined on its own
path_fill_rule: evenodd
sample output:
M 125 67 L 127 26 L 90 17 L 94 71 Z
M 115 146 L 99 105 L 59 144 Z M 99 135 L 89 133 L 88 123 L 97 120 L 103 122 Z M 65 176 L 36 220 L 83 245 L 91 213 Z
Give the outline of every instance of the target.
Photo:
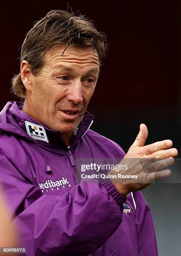
M 10 103 L 10 102 L 8 102 Z M 66 144 L 64 141 L 61 139 L 61 135 L 59 131 L 50 129 L 46 127 L 45 125 L 42 125 L 41 123 L 38 123 L 36 120 L 31 118 L 31 116 L 27 115 L 22 109 L 23 109 L 23 102 L 11 102 L 12 105 L 8 111 L 8 123 L 12 123 L 12 119 L 15 121 L 14 126 L 18 129 L 21 130 L 21 136 L 22 136 L 22 131 L 23 134 L 26 138 L 29 138 L 32 140 L 32 138 L 27 134 L 26 126 L 25 126 L 25 121 L 31 122 L 33 124 L 41 125 L 46 131 L 46 136 L 48 138 L 48 143 L 46 141 L 40 141 L 36 140 L 37 143 L 44 144 L 46 146 L 55 146 L 55 147 L 60 147 L 64 146 L 67 148 Z M 90 114 L 89 112 L 85 112 L 84 115 L 82 116 L 82 119 L 80 120 L 79 124 L 77 125 L 76 129 L 74 130 L 74 143 L 71 146 L 72 148 L 75 148 L 75 146 L 79 143 L 79 141 L 82 139 L 84 134 L 87 132 L 89 129 L 90 125 L 92 124 L 94 119 L 94 115 Z

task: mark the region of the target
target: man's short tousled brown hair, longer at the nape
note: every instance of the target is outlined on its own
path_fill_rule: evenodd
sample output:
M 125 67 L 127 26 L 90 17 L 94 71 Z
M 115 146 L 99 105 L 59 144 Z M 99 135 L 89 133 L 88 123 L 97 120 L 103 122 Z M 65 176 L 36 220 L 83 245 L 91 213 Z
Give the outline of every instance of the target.
M 66 48 L 72 45 L 92 47 L 97 51 L 99 64 L 105 56 L 107 45 L 105 34 L 97 31 L 93 23 L 83 15 L 51 10 L 27 33 L 21 48 L 20 62 L 28 61 L 33 75 L 36 76 L 43 67 L 44 54 L 60 43 L 66 44 Z M 25 99 L 26 89 L 20 73 L 12 79 L 12 91 L 16 96 Z

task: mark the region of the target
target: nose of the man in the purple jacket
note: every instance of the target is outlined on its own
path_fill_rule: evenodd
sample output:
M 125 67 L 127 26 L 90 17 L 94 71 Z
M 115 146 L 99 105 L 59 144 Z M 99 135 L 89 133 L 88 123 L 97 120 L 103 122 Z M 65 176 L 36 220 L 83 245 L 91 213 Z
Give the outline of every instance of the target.
M 82 83 L 80 80 L 76 80 L 69 85 L 67 100 L 73 102 L 74 104 L 80 104 L 83 101 L 82 95 Z

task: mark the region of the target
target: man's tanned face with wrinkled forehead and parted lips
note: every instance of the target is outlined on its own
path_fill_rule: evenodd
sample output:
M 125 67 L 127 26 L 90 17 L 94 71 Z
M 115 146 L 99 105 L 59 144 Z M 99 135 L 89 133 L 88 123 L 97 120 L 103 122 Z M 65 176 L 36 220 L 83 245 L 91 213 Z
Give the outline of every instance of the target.
M 47 127 L 71 134 L 92 97 L 99 72 L 97 51 L 59 45 L 45 54 L 38 76 L 31 76 L 28 92 L 32 117 Z

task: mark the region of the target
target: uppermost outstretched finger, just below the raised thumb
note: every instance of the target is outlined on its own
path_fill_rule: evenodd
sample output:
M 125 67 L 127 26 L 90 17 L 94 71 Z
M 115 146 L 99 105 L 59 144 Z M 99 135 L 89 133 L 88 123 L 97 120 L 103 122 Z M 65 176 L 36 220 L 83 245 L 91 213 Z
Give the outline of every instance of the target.
M 172 146 L 173 142 L 171 140 L 157 141 L 153 144 L 144 146 L 144 152 L 146 155 L 150 155 L 161 149 L 171 148 Z

